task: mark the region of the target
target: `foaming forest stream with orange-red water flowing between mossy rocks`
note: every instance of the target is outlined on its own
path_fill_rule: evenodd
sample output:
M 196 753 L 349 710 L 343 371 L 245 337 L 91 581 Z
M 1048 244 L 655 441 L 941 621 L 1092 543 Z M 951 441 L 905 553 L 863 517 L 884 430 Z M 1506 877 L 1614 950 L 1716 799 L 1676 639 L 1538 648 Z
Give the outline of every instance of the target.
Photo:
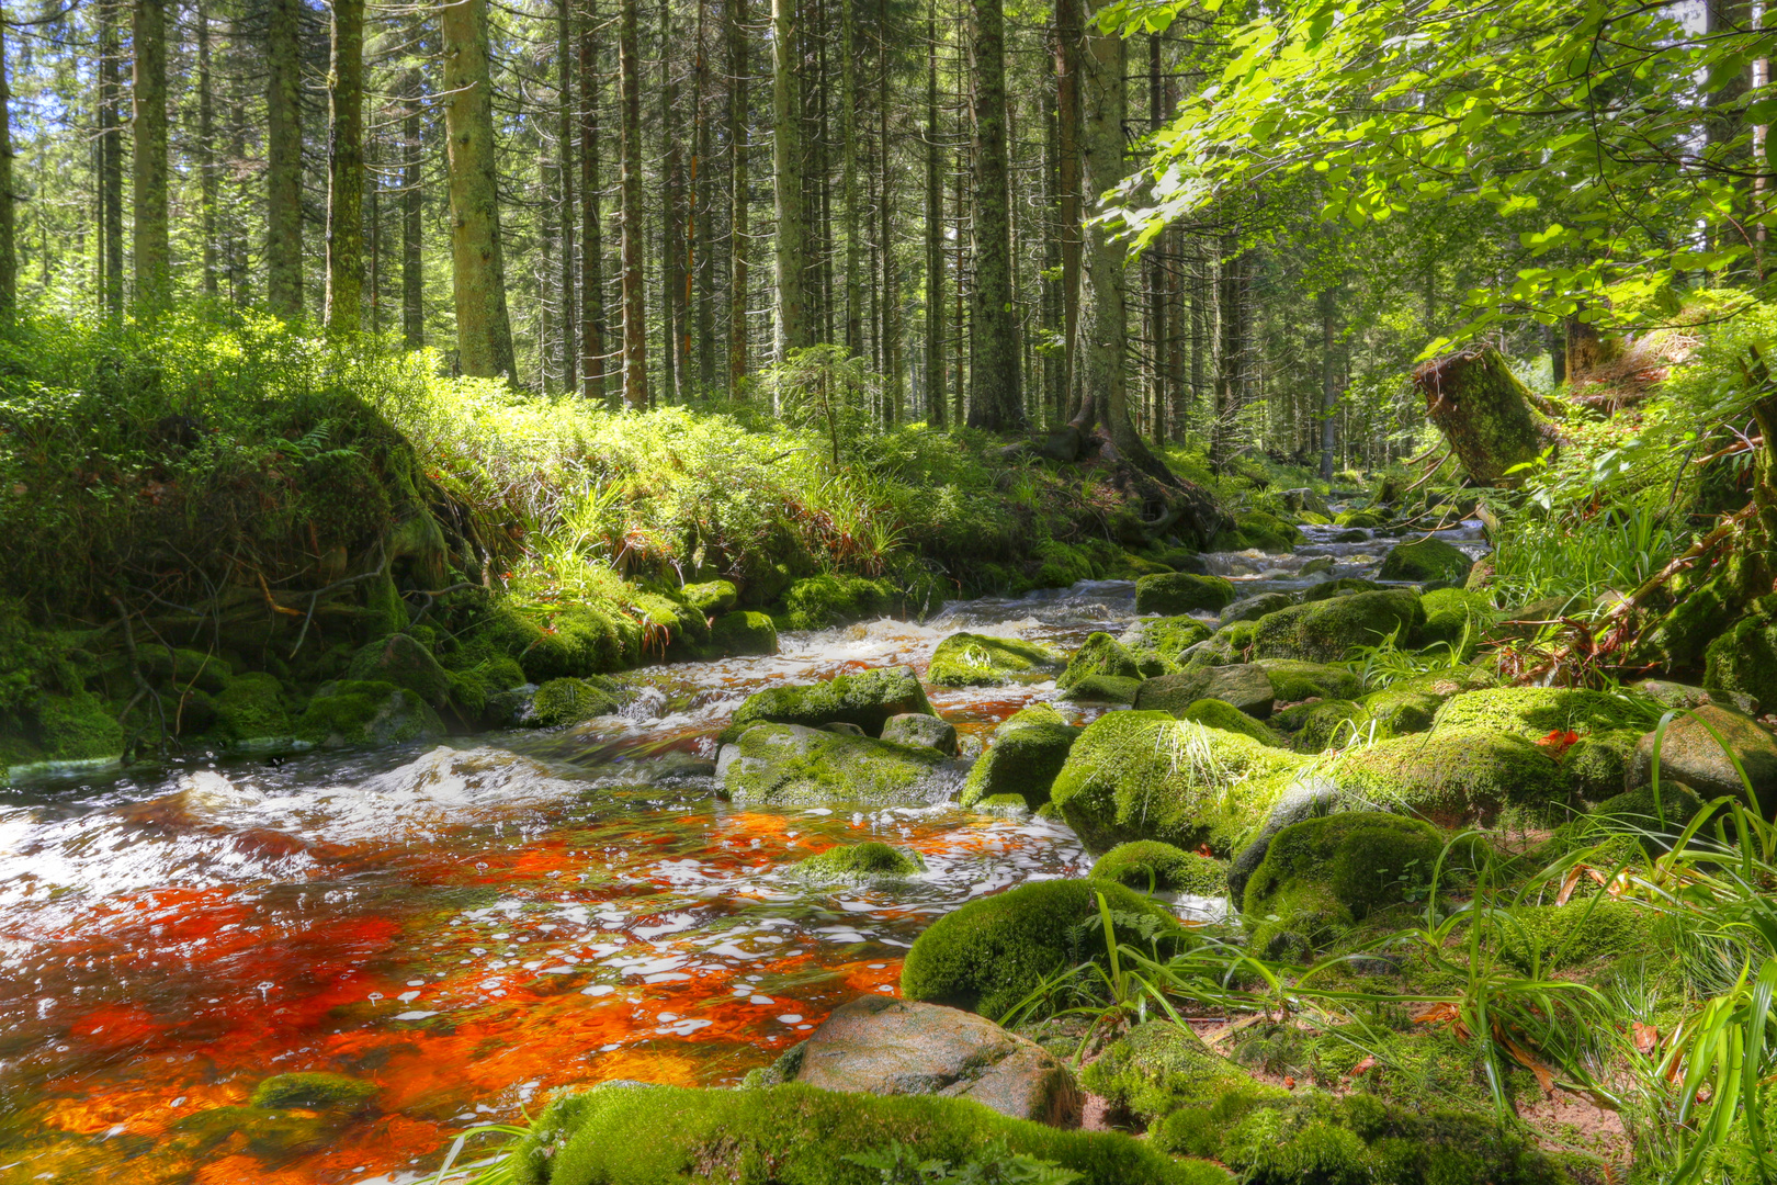
M 1223 553 L 1242 592 L 1365 576 L 1391 540 Z M 1445 535 L 1478 551 L 1478 524 Z M 1335 569 L 1299 569 L 1331 556 Z M 1059 823 L 954 807 L 748 810 L 713 734 L 752 691 L 910 663 L 970 629 L 1072 648 L 1134 618 L 1089 581 L 791 634 L 626 677 L 551 734 L 284 759 L 188 755 L 0 794 L 0 1183 L 414 1181 L 467 1126 L 570 1084 L 732 1084 L 858 993 L 933 917 L 1091 865 Z M 979 752 L 1054 684 L 936 689 Z M 1059 705 L 1075 720 L 1096 709 Z M 887 888 L 784 874 L 835 842 L 920 851 Z M 354 1117 L 227 1135 L 268 1075 L 375 1082 Z M 302 1119 L 299 1116 L 299 1119 Z

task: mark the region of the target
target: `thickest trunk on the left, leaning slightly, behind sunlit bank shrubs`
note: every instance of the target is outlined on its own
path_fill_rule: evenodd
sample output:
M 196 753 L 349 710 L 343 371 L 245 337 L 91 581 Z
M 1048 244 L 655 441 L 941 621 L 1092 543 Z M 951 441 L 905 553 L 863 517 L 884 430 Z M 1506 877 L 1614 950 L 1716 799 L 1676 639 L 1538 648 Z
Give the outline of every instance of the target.
M 457 364 L 466 375 L 517 378 L 499 245 L 487 0 L 455 0 L 442 14 Z

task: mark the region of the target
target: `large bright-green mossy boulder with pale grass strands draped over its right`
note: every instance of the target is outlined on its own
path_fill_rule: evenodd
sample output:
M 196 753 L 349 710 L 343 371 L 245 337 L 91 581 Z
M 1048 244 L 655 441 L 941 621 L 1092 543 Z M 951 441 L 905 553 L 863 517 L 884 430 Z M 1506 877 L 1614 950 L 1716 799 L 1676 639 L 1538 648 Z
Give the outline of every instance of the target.
M 1073 743 L 1050 799 L 1093 851 L 1159 839 L 1231 855 L 1301 760 L 1166 712 L 1109 712 Z

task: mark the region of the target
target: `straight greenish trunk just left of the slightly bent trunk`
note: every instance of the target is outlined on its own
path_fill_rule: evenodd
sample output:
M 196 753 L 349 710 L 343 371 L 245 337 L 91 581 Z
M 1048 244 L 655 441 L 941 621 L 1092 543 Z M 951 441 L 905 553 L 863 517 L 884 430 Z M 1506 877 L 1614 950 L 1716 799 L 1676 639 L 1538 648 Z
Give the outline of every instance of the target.
M 267 304 L 293 318 L 302 316 L 302 0 L 270 0 L 265 60 Z

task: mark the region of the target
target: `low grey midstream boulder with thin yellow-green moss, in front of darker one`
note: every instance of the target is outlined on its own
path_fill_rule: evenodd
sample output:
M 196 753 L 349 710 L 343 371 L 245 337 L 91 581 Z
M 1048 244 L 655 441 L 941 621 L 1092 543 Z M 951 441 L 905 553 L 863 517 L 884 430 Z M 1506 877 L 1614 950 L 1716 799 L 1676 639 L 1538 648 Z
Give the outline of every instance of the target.
M 951 798 L 961 767 L 931 748 L 764 723 L 721 746 L 716 778 L 748 805 L 913 807 Z

